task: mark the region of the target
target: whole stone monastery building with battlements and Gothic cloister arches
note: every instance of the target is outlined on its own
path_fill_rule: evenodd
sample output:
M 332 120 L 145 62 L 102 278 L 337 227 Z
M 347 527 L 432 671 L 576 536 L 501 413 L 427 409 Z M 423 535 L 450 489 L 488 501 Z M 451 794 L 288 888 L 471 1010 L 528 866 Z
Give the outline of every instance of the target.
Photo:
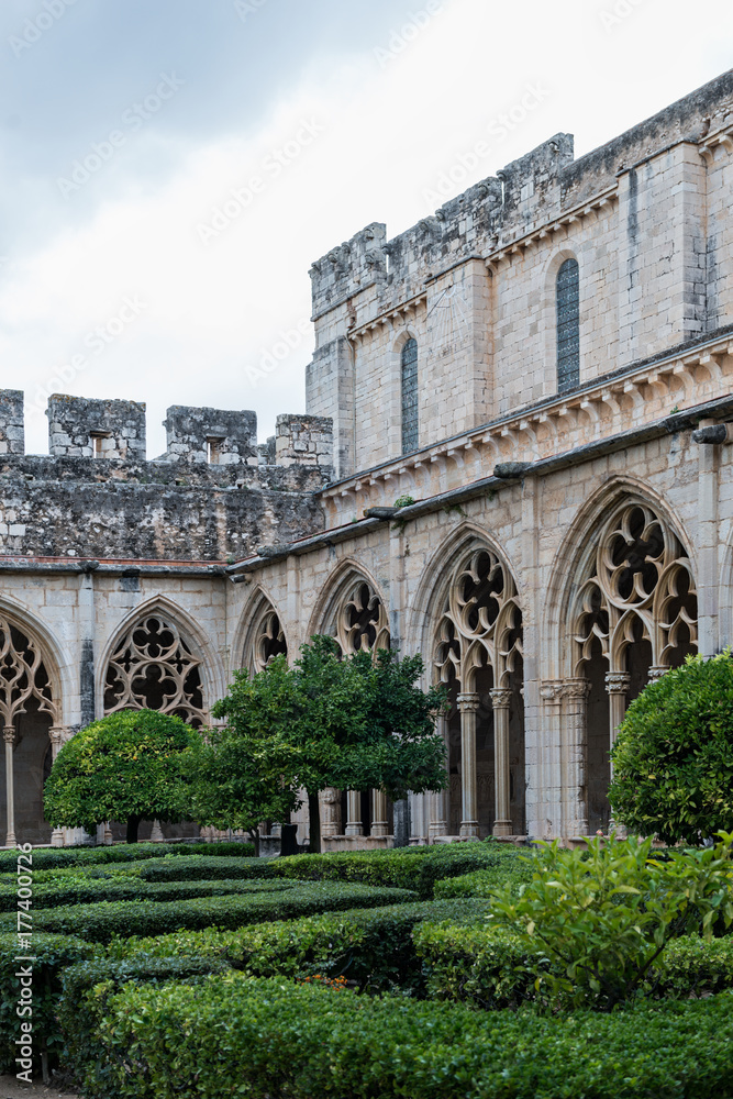
M 42 787 L 81 725 L 203 725 L 314 633 L 421 652 L 452 700 L 449 788 L 326 790 L 330 846 L 606 825 L 628 702 L 733 642 L 732 153 L 733 70 L 367 225 L 311 268 L 308 414 L 266 445 L 253 412 L 174 407 L 151 460 L 143 404 L 55 396 L 25 455 L 0 393 L 7 841 L 79 839 Z

